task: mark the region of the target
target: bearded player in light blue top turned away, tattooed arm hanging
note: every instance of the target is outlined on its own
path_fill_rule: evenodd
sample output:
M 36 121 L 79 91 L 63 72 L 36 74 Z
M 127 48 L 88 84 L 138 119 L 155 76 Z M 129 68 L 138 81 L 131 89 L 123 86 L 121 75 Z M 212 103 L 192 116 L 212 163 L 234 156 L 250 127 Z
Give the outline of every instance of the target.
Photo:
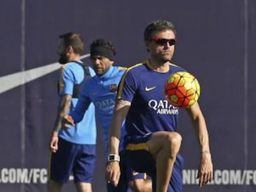
M 85 117 L 72 129 L 61 127 L 62 117 L 74 110 L 77 104 L 79 87 L 85 76 L 95 75 L 93 69 L 80 61 L 82 51 L 83 40 L 79 34 L 65 33 L 59 36 L 59 63 L 62 64 L 58 81 L 59 109 L 49 144 L 48 192 L 61 191 L 71 173 L 77 191 L 92 192 L 96 162 L 95 107 L 90 105 Z

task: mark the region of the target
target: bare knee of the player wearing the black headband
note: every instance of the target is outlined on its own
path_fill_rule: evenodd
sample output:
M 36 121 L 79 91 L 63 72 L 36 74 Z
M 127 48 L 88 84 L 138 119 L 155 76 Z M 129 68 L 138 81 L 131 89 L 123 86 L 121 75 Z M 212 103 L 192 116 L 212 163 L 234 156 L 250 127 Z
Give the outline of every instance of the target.
M 152 182 L 151 182 L 151 179 L 138 178 L 130 181 L 129 187 L 134 192 L 151 192 Z

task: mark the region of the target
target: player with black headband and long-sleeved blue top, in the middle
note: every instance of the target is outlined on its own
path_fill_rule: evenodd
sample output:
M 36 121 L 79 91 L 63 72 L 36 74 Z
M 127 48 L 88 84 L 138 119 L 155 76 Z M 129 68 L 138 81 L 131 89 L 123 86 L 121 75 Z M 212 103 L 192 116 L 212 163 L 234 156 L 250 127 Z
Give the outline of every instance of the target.
M 111 41 L 104 39 L 93 41 L 90 45 L 90 59 L 96 75 L 88 79 L 82 86 L 75 110 L 64 119 L 64 123 L 68 124 L 72 124 L 73 121 L 75 123 L 80 122 L 83 114 L 87 114 L 89 104 L 93 102 L 98 120 L 103 128 L 107 154 L 109 124 L 116 101 L 117 86 L 126 70 L 124 67 L 113 66 L 115 54 L 116 51 Z M 121 132 L 123 137 L 125 135 L 124 127 Z M 122 151 L 122 148 L 120 148 L 120 151 Z M 119 161 L 119 159 L 108 159 L 108 161 Z M 120 164 L 124 171 L 121 181 L 117 187 L 108 183 L 108 192 L 127 191 L 128 184 L 134 191 L 151 191 L 151 180 L 147 179 L 145 173 L 137 173 L 132 169 L 128 169 L 124 161 L 121 161 Z

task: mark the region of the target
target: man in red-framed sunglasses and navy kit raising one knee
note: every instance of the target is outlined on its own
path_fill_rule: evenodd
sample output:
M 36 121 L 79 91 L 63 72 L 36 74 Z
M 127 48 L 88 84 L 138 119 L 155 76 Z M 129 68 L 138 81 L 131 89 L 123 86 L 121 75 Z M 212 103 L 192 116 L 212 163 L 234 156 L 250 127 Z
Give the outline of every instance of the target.
M 117 159 L 122 121 L 126 118 L 124 148 L 127 165 L 147 172 L 153 191 L 181 192 L 183 159 L 179 154 L 182 137 L 177 133 L 178 109 L 164 98 L 164 82 L 173 73 L 185 71 L 171 64 L 176 30 L 166 20 L 151 22 L 144 31 L 147 61 L 126 70 L 119 84 L 110 129 L 108 180 L 117 185 L 120 168 Z M 189 109 L 201 149 L 199 185 L 213 177 L 208 131 L 198 103 Z

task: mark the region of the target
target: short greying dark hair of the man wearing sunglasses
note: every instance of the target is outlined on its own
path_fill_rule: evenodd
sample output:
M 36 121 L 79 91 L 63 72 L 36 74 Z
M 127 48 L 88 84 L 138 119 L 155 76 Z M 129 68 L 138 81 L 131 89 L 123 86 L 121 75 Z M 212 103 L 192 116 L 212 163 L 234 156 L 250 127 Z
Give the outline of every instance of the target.
M 176 35 L 176 29 L 173 23 L 168 22 L 167 20 L 155 20 L 150 22 L 144 31 L 144 41 L 150 41 L 153 38 L 153 33 L 156 31 L 166 31 L 172 30 L 174 35 Z

